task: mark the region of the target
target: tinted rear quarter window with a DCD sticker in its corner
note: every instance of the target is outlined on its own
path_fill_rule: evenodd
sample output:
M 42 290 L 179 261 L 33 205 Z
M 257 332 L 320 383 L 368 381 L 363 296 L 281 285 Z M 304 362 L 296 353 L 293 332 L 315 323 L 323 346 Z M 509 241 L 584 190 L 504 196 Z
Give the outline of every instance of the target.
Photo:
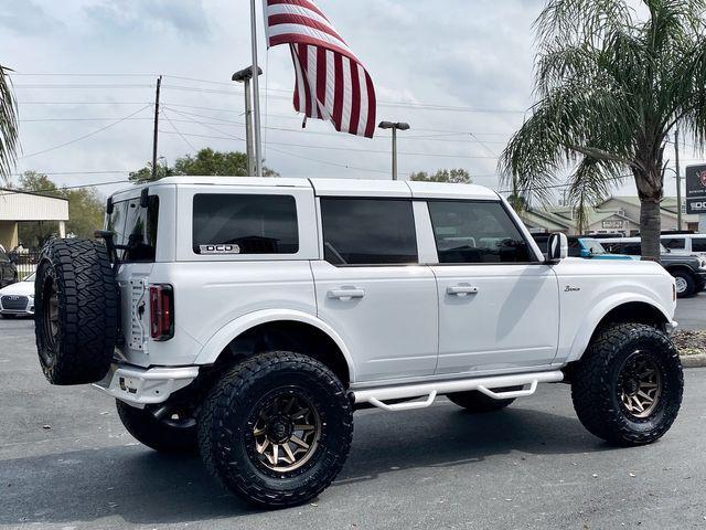
M 193 250 L 196 254 L 297 254 L 297 202 L 291 195 L 196 194 Z

